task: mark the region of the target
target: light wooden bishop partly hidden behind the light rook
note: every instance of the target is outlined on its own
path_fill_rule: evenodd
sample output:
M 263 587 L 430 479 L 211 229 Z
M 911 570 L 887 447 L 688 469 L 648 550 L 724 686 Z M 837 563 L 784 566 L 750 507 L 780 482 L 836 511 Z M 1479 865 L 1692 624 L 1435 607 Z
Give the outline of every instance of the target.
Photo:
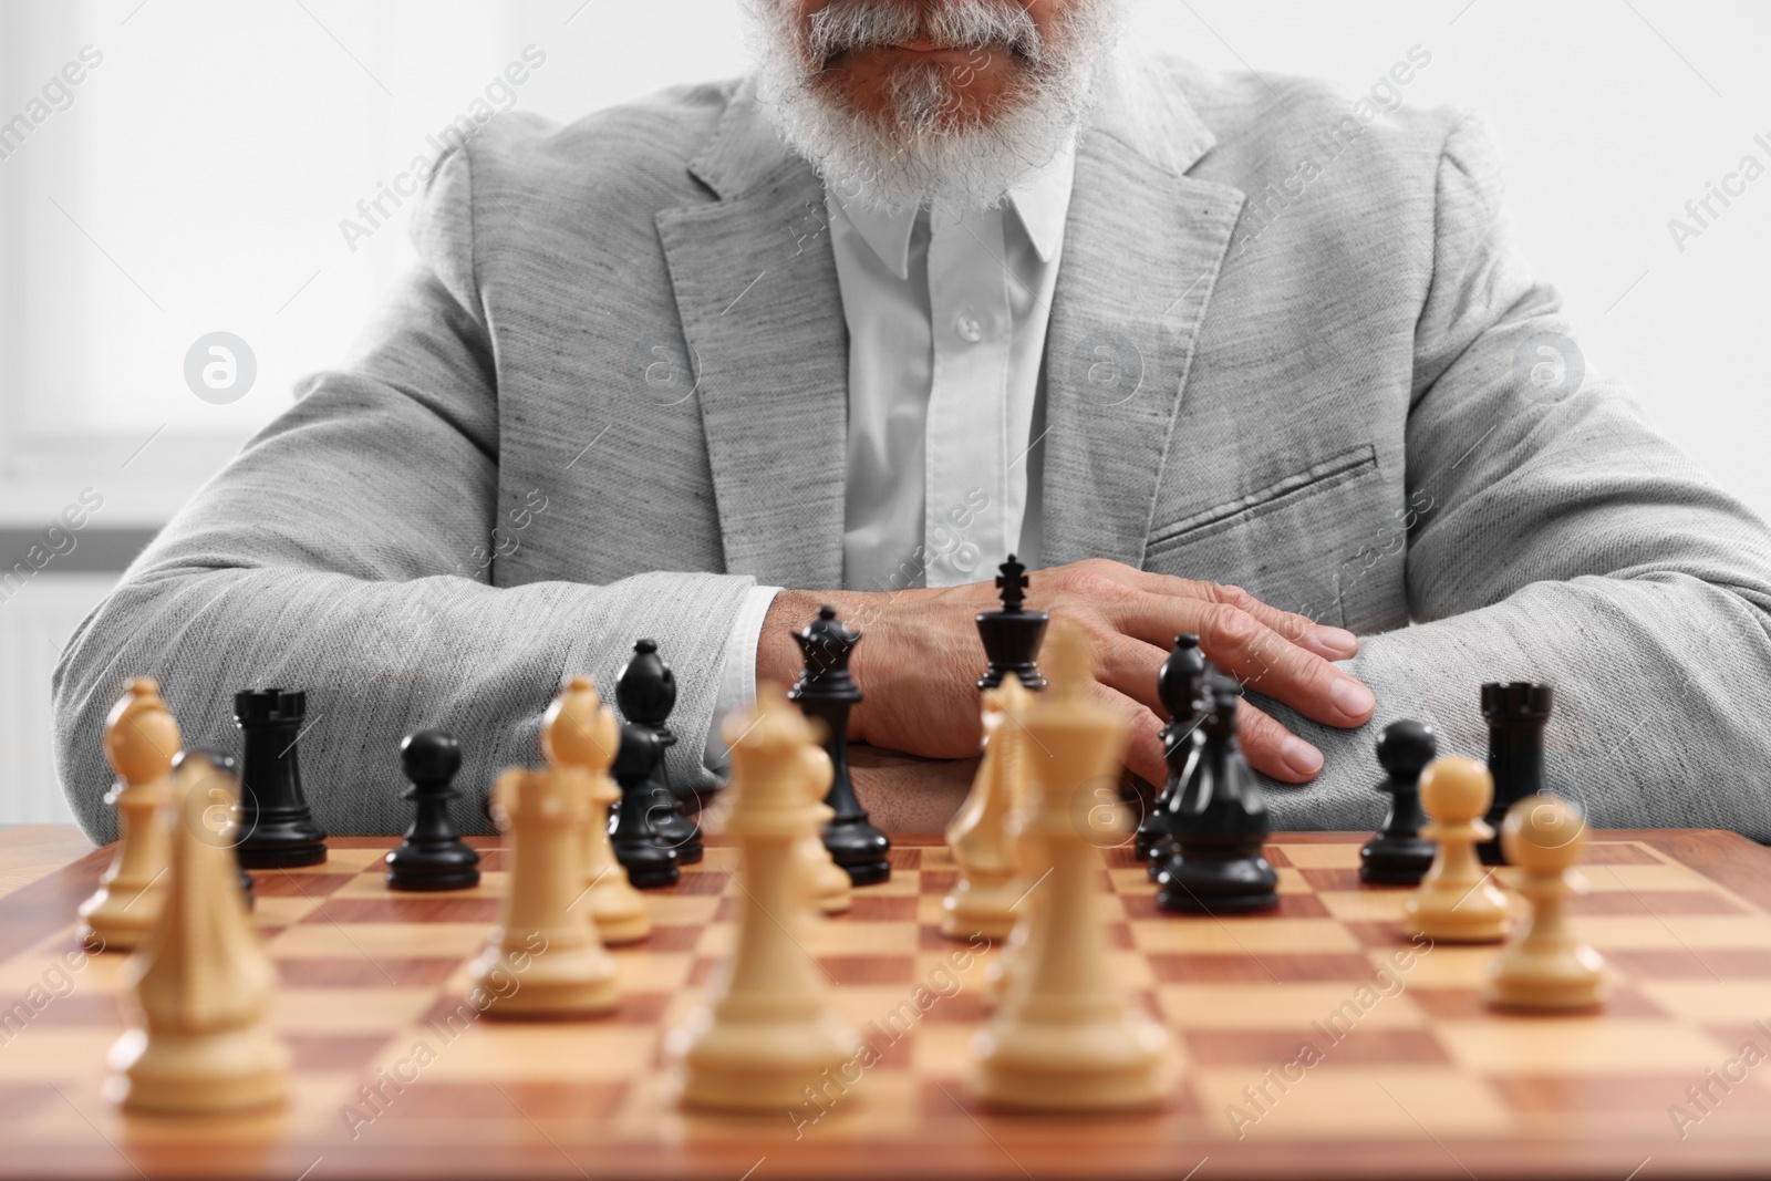
M 584 905 L 604 944 L 632 944 L 652 933 L 645 894 L 634 889 L 609 845 L 609 804 L 622 799 L 609 779 L 622 726 L 602 705 L 588 676 L 574 676 L 542 715 L 542 756 L 549 767 L 577 767 L 590 776 L 584 825 Z

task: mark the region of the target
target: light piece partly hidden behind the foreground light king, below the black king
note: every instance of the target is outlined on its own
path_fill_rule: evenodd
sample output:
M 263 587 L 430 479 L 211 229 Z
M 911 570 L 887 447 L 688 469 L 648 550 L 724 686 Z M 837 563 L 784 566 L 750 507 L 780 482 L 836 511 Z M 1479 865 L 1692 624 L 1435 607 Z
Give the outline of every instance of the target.
M 940 899 L 940 933 L 949 938 L 983 935 L 1008 938 L 1015 930 L 1015 903 L 1025 892 L 1017 876 L 1015 838 L 1008 818 L 1024 795 L 1027 756 L 1020 728 L 1032 694 L 1013 669 L 995 689 L 983 691 L 983 758 L 972 793 L 947 825 L 947 848 L 960 876 Z

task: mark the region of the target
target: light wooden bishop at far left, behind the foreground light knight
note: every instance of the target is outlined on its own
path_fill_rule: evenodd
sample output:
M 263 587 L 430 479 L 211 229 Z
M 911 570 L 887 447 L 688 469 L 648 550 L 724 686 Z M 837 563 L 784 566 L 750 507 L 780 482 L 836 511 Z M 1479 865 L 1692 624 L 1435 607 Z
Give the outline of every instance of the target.
M 136 676 L 104 719 L 104 758 L 117 772 L 104 802 L 117 809 L 119 845 L 97 892 L 80 905 L 80 938 L 89 947 L 138 947 L 159 919 L 172 848 L 168 776 L 181 744 L 159 683 Z

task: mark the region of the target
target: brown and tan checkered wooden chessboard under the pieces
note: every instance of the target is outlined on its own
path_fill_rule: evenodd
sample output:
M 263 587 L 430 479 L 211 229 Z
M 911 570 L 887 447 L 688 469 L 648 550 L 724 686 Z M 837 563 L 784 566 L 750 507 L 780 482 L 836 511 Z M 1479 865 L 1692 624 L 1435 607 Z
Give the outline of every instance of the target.
M 122 958 L 73 970 L 64 956 L 78 961 L 73 912 L 108 850 L 0 899 L 0 1174 L 1651 1181 L 1762 1172 L 1771 1149 L 1771 1066 L 1728 1092 L 1705 1075 L 1739 1078 L 1743 1045 L 1771 1050 L 1771 852 L 1732 834 L 1596 834 L 1574 912 L 1617 979 L 1590 1016 L 1488 1011 L 1477 986 L 1493 949 L 1411 949 L 1403 891 L 1358 884 L 1355 838 L 1277 838 L 1279 912 L 1226 921 L 1158 914 L 1142 866 L 1107 850 L 1119 977 L 1178 1045 L 1172 1101 L 1110 1117 L 967 1098 L 990 953 L 939 935 L 951 861 L 909 838 L 889 884 L 806 935 L 884 1059 L 825 1112 L 800 1108 L 797 1128 L 788 1112 L 668 1100 L 661 1039 L 730 944 L 731 850 L 648 896 L 657 930 L 615 953 L 627 1000 L 613 1018 L 452 1025 L 498 917 L 501 852 L 483 845 L 476 891 L 414 896 L 383 887 L 386 845 L 338 839 L 326 866 L 257 875 L 298 1077 L 289 1110 L 250 1119 L 124 1117 L 99 1096 Z M 360 1087 L 390 1075 L 404 1089 L 367 1105 Z M 1686 1089 L 1705 1084 L 1720 1101 L 1700 1114 Z M 1670 1108 L 1691 1115 L 1682 1139 Z

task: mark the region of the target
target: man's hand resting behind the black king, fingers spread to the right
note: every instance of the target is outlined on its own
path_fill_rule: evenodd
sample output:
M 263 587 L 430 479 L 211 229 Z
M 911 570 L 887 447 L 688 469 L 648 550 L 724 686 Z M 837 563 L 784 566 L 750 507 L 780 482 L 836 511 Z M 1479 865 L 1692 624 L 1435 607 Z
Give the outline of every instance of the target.
M 1087 634 L 1096 694 L 1132 729 L 1126 765 L 1151 783 L 1167 777 L 1156 669 L 1181 632 L 1197 632 L 1218 669 L 1305 717 L 1342 728 L 1371 717 L 1371 691 L 1332 664 L 1358 652 L 1353 634 L 1339 627 L 1270 607 L 1240 586 L 1146 574 L 1107 560 L 1040 570 L 1036 577 L 1038 607 Z M 845 623 L 866 634 L 850 666 L 866 692 L 850 719 L 850 738 L 928 758 L 978 753 L 976 682 L 985 652 L 972 616 L 999 606 L 992 583 L 894 593 L 783 591 L 763 621 L 758 678 L 783 685 L 799 678 L 800 652 L 792 632 L 820 604 L 831 604 Z M 1261 710 L 1243 705 L 1236 719 L 1256 768 L 1286 783 L 1303 783 L 1321 770 L 1321 753 Z

